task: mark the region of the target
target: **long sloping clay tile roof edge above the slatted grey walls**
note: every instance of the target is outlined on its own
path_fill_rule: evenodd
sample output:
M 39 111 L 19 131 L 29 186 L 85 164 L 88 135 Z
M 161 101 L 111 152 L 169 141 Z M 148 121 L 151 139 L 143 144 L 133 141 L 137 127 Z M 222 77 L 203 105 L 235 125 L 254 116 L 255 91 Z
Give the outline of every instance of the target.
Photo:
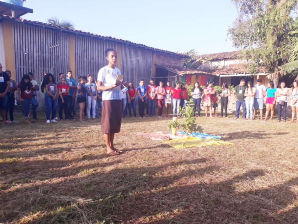
M 59 26 L 53 26 L 51 24 L 38 22 L 38 21 L 31 21 L 31 20 L 27 20 L 27 19 L 23 19 L 23 18 L 16 19 L 14 17 L 3 15 L 3 14 L 0 14 L 0 19 L 1 18 L 10 19 L 10 20 L 14 20 L 16 22 L 23 22 L 23 23 L 27 23 L 27 24 L 40 25 L 40 26 L 49 27 L 49 28 L 52 28 L 52 29 L 60 30 L 60 31 L 66 31 L 66 32 L 82 34 L 82 35 L 87 35 L 87 36 L 94 36 L 94 37 L 104 39 L 104 40 L 110 40 L 110 41 L 114 41 L 114 42 L 118 42 L 118 43 L 122 43 L 122 44 L 133 45 L 133 46 L 136 46 L 136 47 L 142 47 L 142 48 L 145 48 L 145 49 L 148 49 L 148 50 L 153 50 L 153 51 L 157 51 L 157 52 L 161 52 L 161 53 L 165 53 L 165 54 L 170 54 L 170 55 L 181 56 L 181 57 L 184 57 L 184 58 L 189 57 L 185 54 L 175 53 L 175 52 L 172 52 L 172 51 L 162 50 L 162 49 L 158 49 L 158 48 L 154 48 L 154 47 L 148 47 L 148 46 L 143 45 L 143 44 L 137 44 L 137 43 L 134 43 L 134 42 L 131 42 L 131 41 L 128 41 L 128 40 L 117 39 L 117 38 L 114 38 L 114 37 L 111 37 L 111 36 L 101 36 L 101 35 L 97 35 L 97 34 L 94 34 L 94 33 L 84 32 L 84 31 L 81 31 L 81 30 L 75 30 L 75 29 L 63 28 L 63 27 L 59 27 Z

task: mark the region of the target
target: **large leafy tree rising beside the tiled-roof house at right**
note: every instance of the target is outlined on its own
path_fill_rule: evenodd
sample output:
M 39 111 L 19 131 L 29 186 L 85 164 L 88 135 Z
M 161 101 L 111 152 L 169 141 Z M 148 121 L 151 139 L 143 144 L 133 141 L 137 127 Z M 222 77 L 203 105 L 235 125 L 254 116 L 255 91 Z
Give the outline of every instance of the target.
M 251 73 L 258 66 L 270 72 L 290 60 L 297 38 L 294 15 L 297 0 L 232 0 L 238 16 L 229 29 L 235 47 L 243 49 L 243 58 L 249 60 Z M 296 31 L 294 31 L 296 29 Z M 297 45 L 297 41 L 296 41 Z M 297 58 L 293 53 L 292 59 Z

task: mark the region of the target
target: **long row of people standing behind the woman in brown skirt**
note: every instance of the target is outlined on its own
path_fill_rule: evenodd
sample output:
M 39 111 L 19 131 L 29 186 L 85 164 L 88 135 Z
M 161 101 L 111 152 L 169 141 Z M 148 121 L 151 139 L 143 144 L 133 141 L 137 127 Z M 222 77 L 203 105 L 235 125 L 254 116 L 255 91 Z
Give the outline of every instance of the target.
M 1 64 L 0 68 L 2 68 Z M 2 93 L 0 93 L 0 103 L 4 123 L 18 122 L 15 121 L 13 115 L 15 91 L 17 91 L 19 102 L 22 103 L 25 121 L 28 123 L 33 122 L 30 121 L 29 116 L 32 113 L 33 120 L 37 119 L 36 108 L 39 106 L 36 94 L 39 91 L 39 86 L 34 80 L 33 73 L 23 75 L 21 82 L 16 84 L 14 80 L 10 79 L 11 72 L 9 70 L 5 72 L 1 70 L 0 85 Z M 97 83 L 90 74 L 80 77 L 79 82 L 76 83 L 70 70 L 66 72 L 66 76 L 64 73 L 60 73 L 58 82 L 56 82 L 55 77 L 51 73 L 46 73 L 41 82 L 41 91 L 44 93 L 44 102 L 46 105 L 46 123 L 57 122 L 57 119 L 75 119 L 75 102 L 79 106 L 80 121 L 83 121 L 84 113 L 88 119 L 91 119 L 91 116 L 92 119 L 100 117 L 103 91 L 97 90 Z M 5 97 L 3 97 L 4 93 Z M 154 85 L 154 79 L 151 79 L 147 86 L 145 86 L 145 80 L 140 80 L 137 88 L 134 87 L 132 82 L 122 82 L 120 93 L 123 118 L 128 115 L 137 118 L 136 105 L 138 105 L 140 118 L 145 118 L 145 108 L 147 108 L 146 114 L 149 117 L 153 117 L 156 114 L 156 104 L 159 117 L 169 117 L 169 109 L 171 107 L 173 107 L 173 116 L 179 116 L 180 109 L 187 105 L 189 98 L 193 100 L 193 111 L 194 115 L 197 111 L 197 117 L 201 116 L 201 105 L 204 106 L 206 117 L 208 116 L 208 112 L 210 117 L 217 116 L 218 97 L 212 82 L 207 83 L 204 89 L 201 88 L 198 82 L 195 82 L 190 96 L 188 96 L 189 93 L 184 83 L 177 82 L 176 86 L 172 87 L 170 81 L 167 81 L 165 86 L 163 81 L 160 81 L 159 86 L 156 86 Z M 251 81 L 247 82 L 246 85 L 246 81 L 242 79 L 240 84 L 232 90 L 229 89 L 226 83 L 223 83 L 220 93 L 221 111 L 219 117 L 227 118 L 229 96 L 232 95 L 236 101 L 236 119 L 239 119 L 241 107 L 243 110 L 243 119 L 255 119 L 258 110 L 260 110 L 260 119 L 263 119 L 265 99 L 265 120 L 269 118 L 273 119 L 274 106 L 277 104 L 278 121 L 283 119 L 285 122 L 289 93 L 292 109 L 291 122 L 294 122 L 295 115 L 298 122 L 297 81 L 293 83 L 291 89 L 285 87 L 285 82 L 280 82 L 279 88 L 274 88 L 274 83 L 270 81 L 266 87 L 262 84 L 261 79 L 257 79 L 255 85 Z M 164 108 L 165 112 L 163 114 Z M 57 111 L 58 117 L 56 116 Z M 10 119 L 8 119 L 8 115 Z

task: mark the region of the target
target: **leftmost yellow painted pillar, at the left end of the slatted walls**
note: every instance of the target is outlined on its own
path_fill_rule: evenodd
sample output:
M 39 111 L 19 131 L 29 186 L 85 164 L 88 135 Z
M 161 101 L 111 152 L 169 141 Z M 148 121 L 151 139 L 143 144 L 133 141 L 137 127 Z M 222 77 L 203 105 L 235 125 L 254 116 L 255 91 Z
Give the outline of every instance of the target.
M 13 41 L 13 21 L 2 20 L 5 69 L 11 71 L 11 78 L 15 80 L 15 48 Z

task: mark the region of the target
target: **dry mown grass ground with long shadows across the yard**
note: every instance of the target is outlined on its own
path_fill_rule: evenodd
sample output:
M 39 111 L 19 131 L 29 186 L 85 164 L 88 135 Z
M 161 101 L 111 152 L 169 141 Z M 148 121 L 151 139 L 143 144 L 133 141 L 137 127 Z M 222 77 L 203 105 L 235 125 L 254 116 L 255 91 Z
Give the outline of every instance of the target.
M 198 118 L 235 145 L 181 150 L 134 134 L 168 121 L 124 119 L 114 157 L 98 120 L 1 125 L 0 223 L 298 223 L 296 123 Z

